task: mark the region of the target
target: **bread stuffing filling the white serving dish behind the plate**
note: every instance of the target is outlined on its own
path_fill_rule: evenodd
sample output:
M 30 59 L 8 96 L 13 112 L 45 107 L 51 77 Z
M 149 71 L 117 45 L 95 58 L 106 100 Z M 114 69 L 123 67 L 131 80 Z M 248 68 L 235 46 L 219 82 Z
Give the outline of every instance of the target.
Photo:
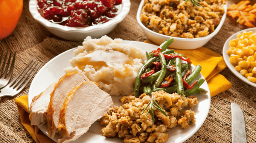
M 202 0 L 199 7 L 183 0 L 145 0 L 140 21 L 167 36 L 198 38 L 215 30 L 226 0 Z

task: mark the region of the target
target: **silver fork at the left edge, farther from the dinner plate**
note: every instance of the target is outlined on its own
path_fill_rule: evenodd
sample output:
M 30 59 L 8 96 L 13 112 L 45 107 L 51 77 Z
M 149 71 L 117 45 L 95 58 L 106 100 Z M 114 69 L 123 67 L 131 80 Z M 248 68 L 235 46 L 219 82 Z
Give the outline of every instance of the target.
M 10 69 L 9 69 L 9 66 L 10 66 L 10 63 L 11 63 L 12 51 L 11 51 L 11 54 L 10 54 L 9 59 L 8 59 L 8 61 L 7 61 L 7 64 L 6 64 L 8 52 L 9 52 L 9 51 L 7 51 L 7 53 L 6 53 L 6 55 L 5 55 L 5 59 L 4 59 L 4 61 L 3 61 L 3 65 L 2 65 L 2 68 L 1 68 L 1 70 L 0 70 L 0 77 L 1 77 L 1 75 L 3 74 L 2 77 L 0 78 L 0 88 L 3 88 L 3 87 L 5 87 L 5 86 L 8 84 L 8 82 L 9 82 L 10 79 L 11 79 L 12 72 L 13 72 L 13 68 L 14 68 L 16 52 L 15 52 L 15 54 L 14 54 L 14 57 L 12 58 L 12 64 L 11 64 Z M 3 56 L 4 53 L 5 53 L 5 50 L 3 50 L 3 53 L 2 53 L 2 55 L 1 55 L 0 64 L 2 63 L 2 60 L 3 60 L 3 57 L 4 57 L 4 56 Z M 6 67 L 5 67 L 5 64 L 6 64 Z M 5 70 L 4 70 L 4 69 L 5 69 Z M 8 72 L 8 69 L 9 69 L 9 72 Z M 8 72 L 8 74 L 7 74 L 7 72 Z

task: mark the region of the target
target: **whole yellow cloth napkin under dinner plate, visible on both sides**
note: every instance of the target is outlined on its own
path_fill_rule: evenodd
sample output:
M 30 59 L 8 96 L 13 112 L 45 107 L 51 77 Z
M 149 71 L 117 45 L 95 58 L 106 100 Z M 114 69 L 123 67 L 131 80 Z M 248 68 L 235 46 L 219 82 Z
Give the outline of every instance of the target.
M 154 44 L 150 41 L 146 43 Z M 231 83 L 219 72 L 226 68 L 223 58 L 213 51 L 206 48 L 197 48 L 192 50 L 179 50 L 175 52 L 183 54 L 183 57 L 189 57 L 194 65 L 202 66 L 201 73 L 209 85 L 211 97 L 231 88 Z M 27 104 L 27 95 L 15 98 L 15 103 L 20 114 L 21 124 L 26 128 L 36 143 L 55 143 L 47 137 L 37 126 L 31 126 L 29 120 L 29 108 Z

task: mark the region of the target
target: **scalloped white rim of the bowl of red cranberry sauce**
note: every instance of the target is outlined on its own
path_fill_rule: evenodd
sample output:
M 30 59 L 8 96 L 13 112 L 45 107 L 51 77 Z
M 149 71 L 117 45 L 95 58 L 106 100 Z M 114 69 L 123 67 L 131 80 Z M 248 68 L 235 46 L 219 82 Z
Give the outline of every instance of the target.
M 131 7 L 130 0 L 122 0 L 122 8 L 120 13 L 110 21 L 105 22 L 103 24 L 92 25 L 88 27 L 68 27 L 60 24 L 54 24 L 49 20 L 43 18 L 43 16 L 41 16 L 37 10 L 36 0 L 29 1 L 29 12 L 31 13 L 31 15 L 34 17 L 36 21 L 38 21 L 40 24 L 42 24 L 46 28 L 50 28 L 58 31 L 66 31 L 67 33 L 72 33 L 72 32 L 89 33 L 96 30 L 104 30 L 106 28 L 112 27 L 115 24 L 121 22 L 125 18 L 125 16 L 130 11 L 130 7 Z

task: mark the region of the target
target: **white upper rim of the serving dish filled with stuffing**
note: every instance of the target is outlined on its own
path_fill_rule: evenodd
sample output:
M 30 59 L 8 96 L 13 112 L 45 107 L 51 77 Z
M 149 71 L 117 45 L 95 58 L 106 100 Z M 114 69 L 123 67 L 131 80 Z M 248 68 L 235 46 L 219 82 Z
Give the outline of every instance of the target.
M 142 27 L 144 30 L 152 33 L 152 34 L 155 34 L 157 36 L 161 36 L 161 37 L 164 37 L 166 39 L 169 39 L 169 38 L 173 38 L 175 40 L 178 40 L 178 41 L 200 41 L 200 40 L 207 40 L 209 38 L 212 38 L 213 36 L 215 36 L 219 30 L 221 29 L 222 25 L 224 24 L 224 21 L 226 19 L 226 14 L 227 14 L 227 4 L 224 5 L 224 14 L 222 15 L 222 18 L 221 18 L 221 21 L 219 22 L 219 25 L 215 28 L 215 30 L 213 31 L 213 33 L 205 36 L 205 37 L 199 37 L 199 38 L 181 38 L 181 37 L 172 37 L 172 36 L 167 36 L 167 35 L 164 35 L 164 34 L 160 34 L 160 33 L 157 33 L 155 31 L 152 31 L 150 29 L 148 29 L 147 27 L 145 27 L 145 25 L 142 24 L 142 22 L 140 21 L 140 13 L 142 11 L 142 7 L 143 7 L 143 3 L 144 3 L 145 0 L 142 0 L 140 2 L 140 5 L 139 5 L 139 8 L 138 8 L 138 11 L 137 11 L 137 15 L 136 15 L 136 19 L 137 19 L 137 22 L 139 23 L 140 27 Z

